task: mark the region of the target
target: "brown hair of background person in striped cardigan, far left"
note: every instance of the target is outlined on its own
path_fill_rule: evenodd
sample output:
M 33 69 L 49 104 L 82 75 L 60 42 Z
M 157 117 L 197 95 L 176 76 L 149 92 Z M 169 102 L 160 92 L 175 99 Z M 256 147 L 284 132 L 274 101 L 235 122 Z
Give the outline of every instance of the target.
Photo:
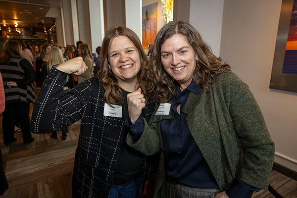
M 5 42 L 2 53 L 0 54 L 0 63 L 8 64 L 11 58 L 21 58 L 21 49 L 20 42 L 9 39 Z

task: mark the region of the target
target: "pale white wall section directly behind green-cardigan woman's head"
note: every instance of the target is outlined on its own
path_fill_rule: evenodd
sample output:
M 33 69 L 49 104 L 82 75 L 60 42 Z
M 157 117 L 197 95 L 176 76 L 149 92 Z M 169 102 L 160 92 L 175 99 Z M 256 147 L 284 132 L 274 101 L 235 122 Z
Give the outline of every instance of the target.
M 216 56 L 220 56 L 224 0 L 191 0 L 190 23 Z

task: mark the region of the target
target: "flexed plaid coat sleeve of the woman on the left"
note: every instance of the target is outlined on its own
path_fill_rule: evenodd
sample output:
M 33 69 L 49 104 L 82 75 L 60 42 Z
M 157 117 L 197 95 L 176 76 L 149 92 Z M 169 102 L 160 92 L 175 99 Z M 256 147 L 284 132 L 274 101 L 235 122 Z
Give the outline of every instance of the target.
M 63 94 L 67 74 L 52 68 L 36 100 L 32 119 L 33 133 L 59 131 L 79 120 L 89 99 L 90 89 L 85 83 Z

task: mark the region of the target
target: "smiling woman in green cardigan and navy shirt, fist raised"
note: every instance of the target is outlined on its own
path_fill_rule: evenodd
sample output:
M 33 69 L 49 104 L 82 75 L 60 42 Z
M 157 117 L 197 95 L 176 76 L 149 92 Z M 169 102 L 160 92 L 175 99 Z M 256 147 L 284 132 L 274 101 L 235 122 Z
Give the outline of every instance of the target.
M 274 143 L 247 85 L 188 22 L 157 34 L 151 53 L 157 104 L 147 123 L 140 90 L 129 94 L 128 144 L 161 151 L 154 198 L 250 198 L 268 188 Z

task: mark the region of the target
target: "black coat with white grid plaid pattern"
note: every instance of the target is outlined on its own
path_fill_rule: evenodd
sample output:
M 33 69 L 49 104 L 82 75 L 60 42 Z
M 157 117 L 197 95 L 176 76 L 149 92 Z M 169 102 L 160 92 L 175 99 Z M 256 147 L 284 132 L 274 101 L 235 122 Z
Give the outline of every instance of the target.
M 81 119 L 78 147 L 72 178 L 72 197 L 107 198 L 111 189 L 122 145 L 126 141 L 122 118 L 103 116 L 104 90 L 94 77 L 62 95 L 67 74 L 52 68 L 46 78 L 32 114 L 33 133 L 58 131 Z M 152 114 L 154 102 L 148 101 L 142 116 Z M 122 111 L 128 111 L 122 106 Z M 125 113 L 127 114 L 127 113 Z M 123 114 L 124 115 L 124 114 Z M 154 156 L 142 162 L 142 187 L 153 177 Z M 140 190 L 140 197 L 142 189 Z

